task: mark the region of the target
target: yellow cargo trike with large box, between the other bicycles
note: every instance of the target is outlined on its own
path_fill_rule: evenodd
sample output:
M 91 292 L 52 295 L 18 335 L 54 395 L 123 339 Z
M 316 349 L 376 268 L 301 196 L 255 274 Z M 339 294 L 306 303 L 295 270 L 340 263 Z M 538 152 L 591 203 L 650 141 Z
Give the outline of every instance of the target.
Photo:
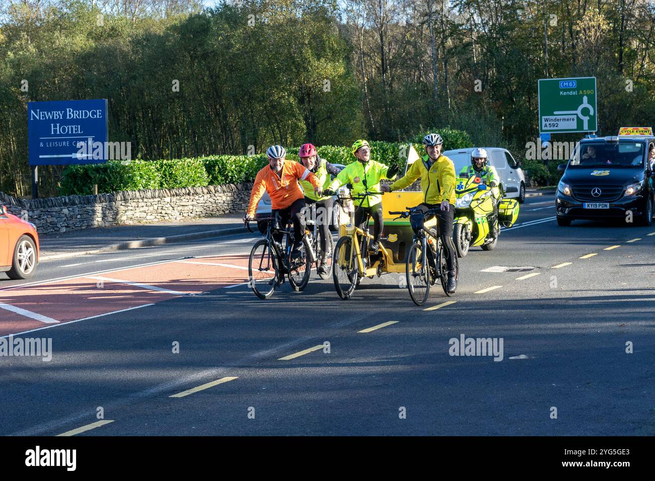
M 384 229 L 377 253 L 369 253 L 369 241 L 373 236 L 369 227 L 373 223 L 370 216 L 364 219 L 364 228 L 354 224 L 354 206 L 364 203 L 365 198 L 383 194 Z M 408 205 L 421 204 L 422 192 L 383 192 L 365 191 L 361 195 L 341 196 L 341 228 L 340 238 L 333 253 L 332 277 L 337 294 L 342 299 L 348 299 L 354 293 L 357 285 L 369 277 L 382 276 L 390 272 L 405 277 L 405 258 L 407 249 L 413 242 L 413 231 L 409 220 L 394 220 L 389 211 L 405 211 Z M 425 226 L 436 224 L 436 219 L 426 221 Z M 404 287 L 404 286 L 402 286 Z

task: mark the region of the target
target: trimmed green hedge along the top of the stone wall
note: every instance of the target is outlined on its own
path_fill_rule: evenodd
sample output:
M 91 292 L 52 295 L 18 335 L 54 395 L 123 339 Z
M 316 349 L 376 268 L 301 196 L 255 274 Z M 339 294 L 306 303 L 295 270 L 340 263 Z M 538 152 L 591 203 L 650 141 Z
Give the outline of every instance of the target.
M 434 131 L 432 131 L 434 132 Z M 436 130 L 443 137 L 444 149 L 471 147 L 466 132 L 453 129 Z M 424 134 L 413 137 L 416 149 L 422 153 Z M 407 158 L 407 143 L 370 141 L 371 158 L 403 171 Z M 287 157 L 298 160 L 299 147 L 287 149 Z M 318 155 L 331 164 L 350 164 L 355 160 L 349 146 L 322 145 Z M 252 182 L 257 171 L 267 164 L 265 154 L 212 155 L 174 160 L 110 160 L 105 164 L 68 166 L 62 174 L 60 195 L 140 190 L 144 188 L 200 187 L 204 185 L 240 184 Z

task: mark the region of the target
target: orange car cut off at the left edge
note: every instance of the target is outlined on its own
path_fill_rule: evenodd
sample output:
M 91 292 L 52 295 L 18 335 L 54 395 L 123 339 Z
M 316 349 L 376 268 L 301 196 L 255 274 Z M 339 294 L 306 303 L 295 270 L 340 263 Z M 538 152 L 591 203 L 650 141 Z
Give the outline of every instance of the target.
M 39 263 L 36 226 L 7 212 L 0 205 L 0 272 L 10 279 L 28 279 Z

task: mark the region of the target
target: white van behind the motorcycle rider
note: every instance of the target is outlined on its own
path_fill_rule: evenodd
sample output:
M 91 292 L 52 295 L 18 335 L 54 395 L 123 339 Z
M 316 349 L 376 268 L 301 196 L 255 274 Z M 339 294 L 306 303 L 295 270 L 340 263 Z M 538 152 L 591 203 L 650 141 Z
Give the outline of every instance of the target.
M 476 147 L 442 152 L 455 164 L 455 175 L 471 165 L 471 152 Z M 516 162 L 512 154 L 502 147 L 484 147 L 489 155 L 489 165 L 494 166 L 500 176 L 500 183 L 505 188 L 506 198 L 515 198 L 519 204 L 525 200 L 525 175 L 521 170 L 521 163 Z

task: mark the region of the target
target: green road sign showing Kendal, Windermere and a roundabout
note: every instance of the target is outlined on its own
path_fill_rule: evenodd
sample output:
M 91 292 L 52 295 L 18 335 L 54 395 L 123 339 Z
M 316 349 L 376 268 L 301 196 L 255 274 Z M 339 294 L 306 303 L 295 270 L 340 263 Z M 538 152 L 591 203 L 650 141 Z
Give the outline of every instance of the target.
M 539 79 L 539 132 L 596 132 L 596 77 Z

